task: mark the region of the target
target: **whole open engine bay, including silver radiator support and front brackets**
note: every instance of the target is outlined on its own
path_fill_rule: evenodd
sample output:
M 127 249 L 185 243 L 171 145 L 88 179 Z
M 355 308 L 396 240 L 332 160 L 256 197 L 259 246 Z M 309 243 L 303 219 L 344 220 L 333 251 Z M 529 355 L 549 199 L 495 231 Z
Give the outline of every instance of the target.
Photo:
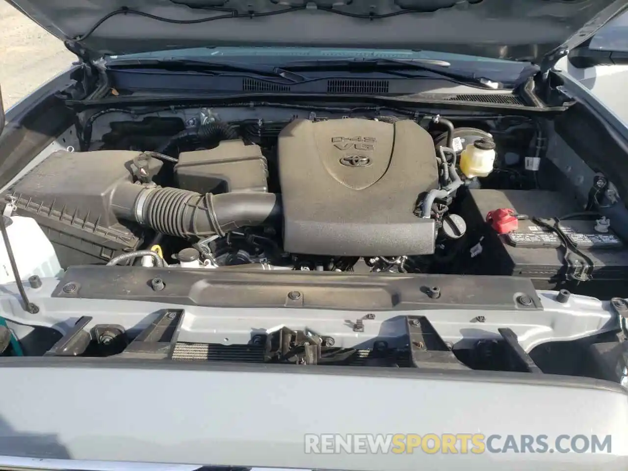
M 628 332 L 628 215 L 551 120 L 272 106 L 81 118 L 4 188 L 28 302 L 5 263 L 19 342 L 1 355 L 624 381 L 607 369 Z

